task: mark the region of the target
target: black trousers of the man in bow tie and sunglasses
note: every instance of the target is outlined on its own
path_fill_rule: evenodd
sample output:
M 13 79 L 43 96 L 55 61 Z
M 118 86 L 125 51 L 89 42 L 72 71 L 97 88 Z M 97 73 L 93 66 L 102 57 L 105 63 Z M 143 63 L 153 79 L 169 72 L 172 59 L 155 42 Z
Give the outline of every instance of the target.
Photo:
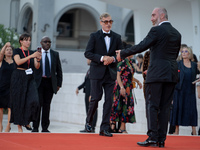
M 91 101 L 89 103 L 89 110 L 87 113 L 86 123 L 92 125 L 93 116 L 98 108 L 98 102 L 102 98 L 104 89 L 105 101 L 103 104 L 103 116 L 102 116 L 100 131 L 109 130 L 115 80 L 111 78 L 109 70 L 107 70 L 103 79 L 101 80 L 90 79 L 90 84 L 91 84 L 91 93 L 90 93 Z

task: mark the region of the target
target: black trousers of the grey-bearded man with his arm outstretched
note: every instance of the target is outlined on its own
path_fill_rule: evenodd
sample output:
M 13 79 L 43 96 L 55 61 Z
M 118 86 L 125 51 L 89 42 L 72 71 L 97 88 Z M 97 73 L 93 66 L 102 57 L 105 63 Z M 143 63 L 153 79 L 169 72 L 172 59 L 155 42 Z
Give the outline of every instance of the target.
M 150 140 L 159 142 L 166 140 L 174 88 L 175 83 L 146 84 L 147 135 Z

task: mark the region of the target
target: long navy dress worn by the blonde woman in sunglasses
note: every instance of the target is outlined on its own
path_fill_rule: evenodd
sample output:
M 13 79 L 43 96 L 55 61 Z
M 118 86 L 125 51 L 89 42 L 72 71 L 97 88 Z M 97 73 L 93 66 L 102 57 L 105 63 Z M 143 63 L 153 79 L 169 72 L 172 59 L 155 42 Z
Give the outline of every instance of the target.
M 172 125 L 197 126 L 197 105 L 195 88 L 192 84 L 192 68 L 182 65 L 184 74 L 181 89 L 175 89 L 173 96 Z M 195 67 L 196 70 L 196 67 Z M 196 75 L 196 74 L 195 74 Z

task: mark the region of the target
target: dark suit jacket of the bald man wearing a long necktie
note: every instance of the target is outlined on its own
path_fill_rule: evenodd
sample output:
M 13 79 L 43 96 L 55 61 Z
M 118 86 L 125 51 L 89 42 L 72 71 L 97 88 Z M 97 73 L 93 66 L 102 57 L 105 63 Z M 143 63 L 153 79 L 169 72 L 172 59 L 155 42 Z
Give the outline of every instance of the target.
M 51 49 L 50 55 L 51 55 L 52 88 L 53 88 L 53 92 L 56 94 L 57 86 L 59 87 L 62 86 L 62 79 L 63 79 L 62 68 L 61 68 L 59 53 Z M 39 87 L 42 80 L 42 61 L 40 61 L 40 68 L 35 69 L 34 71 L 34 78 L 35 78 L 37 87 Z

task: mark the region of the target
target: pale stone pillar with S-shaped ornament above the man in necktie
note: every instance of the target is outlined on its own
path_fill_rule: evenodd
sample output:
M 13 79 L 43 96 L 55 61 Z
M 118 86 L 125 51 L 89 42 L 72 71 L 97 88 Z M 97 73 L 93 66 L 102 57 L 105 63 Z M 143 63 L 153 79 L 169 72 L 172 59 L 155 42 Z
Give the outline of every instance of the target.
M 56 44 L 53 40 L 54 3 L 55 0 L 34 0 L 31 49 L 40 46 L 43 36 L 50 37 L 52 40 L 51 45 L 55 47 Z

